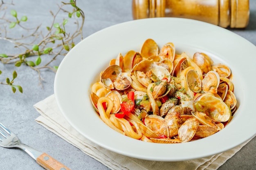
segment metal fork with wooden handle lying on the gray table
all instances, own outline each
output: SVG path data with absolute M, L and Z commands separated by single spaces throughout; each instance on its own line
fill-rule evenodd
M 27 152 L 36 162 L 46 170 L 70 170 L 46 153 L 39 152 L 30 146 L 22 144 L 20 139 L 0 122 L 0 146 L 4 148 L 20 148 Z

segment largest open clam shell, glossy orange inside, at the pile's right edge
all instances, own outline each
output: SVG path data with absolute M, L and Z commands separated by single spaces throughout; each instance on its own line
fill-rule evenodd
M 206 104 L 207 110 L 205 110 L 204 113 L 214 121 L 224 122 L 229 120 L 229 107 L 222 101 L 222 99 L 211 95 L 204 95 L 200 97 L 199 101 Z

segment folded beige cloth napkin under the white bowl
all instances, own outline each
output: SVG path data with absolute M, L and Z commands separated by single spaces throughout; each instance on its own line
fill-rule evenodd
M 92 143 L 80 135 L 67 123 L 61 114 L 54 95 L 36 103 L 34 107 L 41 114 L 36 118 L 38 124 L 54 132 L 62 139 L 112 170 L 156 170 L 159 167 L 162 170 L 216 170 L 248 142 L 227 152 L 201 159 L 180 162 L 146 161 L 119 155 Z

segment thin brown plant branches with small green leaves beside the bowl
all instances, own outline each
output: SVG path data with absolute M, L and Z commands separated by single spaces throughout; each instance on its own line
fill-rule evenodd
M 65 56 L 67 52 L 74 47 L 75 38 L 79 37 L 83 40 L 83 25 L 85 21 L 84 12 L 76 6 L 76 0 L 70 0 L 70 2 L 61 2 L 58 5 L 58 10 L 54 13 L 49 11 L 52 16 L 52 23 L 47 26 L 47 30 L 42 30 L 42 24 L 38 24 L 35 28 L 27 28 L 23 24 L 27 21 L 27 16 L 18 18 L 17 11 L 11 10 L 8 15 L 7 6 L 14 6 L 13 2 L 5 3 L 3 0 L 0 3 L 0 13 L 3 13 L 0 18 L 0 40 L 13 44 L 14 48 L 19 48 L 20 52 L 16 54 L 0 54 L 0 62 L 3 64 L 14 64 L 15 66 L 27 66 L 38 73 L 39 82 L 42 84 L 41 70 L 49 69 L 56 73 L 58 66 L 50 66 L 51 63 L 56 60 L 58 56 Z M 67 9 L 63 7 L 67 6 Z M 71 9 L 71 11 L 69 11 Z M 60 13 L 67 13 L 68 18 L 74 19 L 76 22 L 76 29 L 73 32 L 66 32 L 65 26 L 68 20 L 64 19 L 61 24 L 56 22 Z M 15 21 L 13 21 L 14 19 Z M 21 37 L 11 37 L 9 33 L 12 29 L 23 29 L 25 35 Z M 74 26 L 72 26 L 74 27 Z M 46 32 L 45 32 L 46 31 Z M 43 56 L 49 57 L 43 57 Z M 36 60 L 34 58 L 37 56 Z M 42 58 L 45 61 L 42 64 Z M 34 60 L 34 61 L 32 61 Z M 0 70 L 0 74 L 2 71 Z M 13 85 L 13 80 L 17 77 L 16 71 L 13 71 L 13 79 L 9 81 L 7 77 L 6 83 L 0 82 L 2 85 L 11 86 L 13 93 L 16 92 L 16 88 L 22 93 L 22 87 Z M 1 78 L 1 77 L 0 77 Z

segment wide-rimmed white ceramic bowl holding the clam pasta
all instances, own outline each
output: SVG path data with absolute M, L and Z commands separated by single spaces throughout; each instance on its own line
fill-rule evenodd
M 237 110 L 231 123 L 210 137 L 182 144 L 155 144 L 132 139 L 108 127 L 92 108 L 90 86 L 110 59 L 140 51 L 152 38 L 159 46 L 173 42 L 176 52 L 207 53 L 227 64 L 233 74 Z M 155 161 L 182 161 L 215 155 L 256 134 L 256 46 L 244 38 L 205 22 L 182 18 L 151 18 L 124 22 L 98 31 L 65 56 L 56 73 L 54 93 L 67 121 L 92 142 L 122 155 Z

